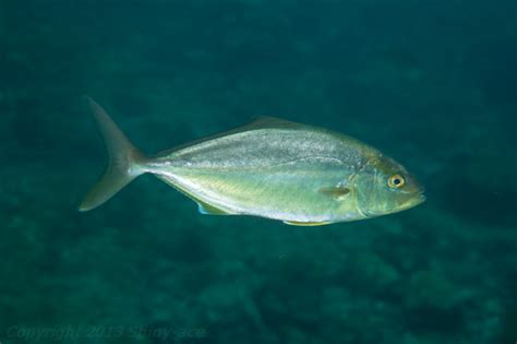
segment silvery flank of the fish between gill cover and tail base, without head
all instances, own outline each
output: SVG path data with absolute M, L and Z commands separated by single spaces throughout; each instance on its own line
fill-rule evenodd
M 299 223 L 365 217 L 356 198 L 321 191 L 353 182 L 366 164 L 361 146 L 310 127 L 263 127 L 274 121 L 160 156 L 151 171 L 228 214 Z

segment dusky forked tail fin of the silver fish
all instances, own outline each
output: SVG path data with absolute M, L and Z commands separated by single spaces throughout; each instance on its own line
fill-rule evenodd
M 145 173 L 145 156 L 125 138 L 106 111 L 91 97 L 85 97 L 103 135 L 108 152 L 108 166 L 100 180 L 89 190 L 79 210 L 89 211 L 112 198 L 131 180 Z

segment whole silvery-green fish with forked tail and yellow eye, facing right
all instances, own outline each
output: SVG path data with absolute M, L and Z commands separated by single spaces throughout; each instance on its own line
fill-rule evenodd
M 332 130 L 275 117 L 147 156 L 105 109 L 86 103 L 108 164 L 79 210 L 93 210 L 152 174 L 208 215 L 251 215 L 320 226 L 400 212 L 425 200 L 408 170 L 378 150 Z

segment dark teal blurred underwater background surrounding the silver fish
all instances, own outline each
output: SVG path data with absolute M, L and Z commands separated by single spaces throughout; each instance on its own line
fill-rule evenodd
M 0 343 L 515 343 L 516 62 L 513 0 L 0 0 Z M 79 213 L 85 94 L 148 153 L 334 129 L 428 201 L 293 227 L 144 176 Z

